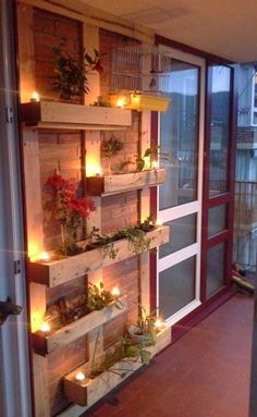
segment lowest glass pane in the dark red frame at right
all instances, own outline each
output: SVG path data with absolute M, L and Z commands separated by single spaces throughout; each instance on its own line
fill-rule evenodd
M 207 253 L 207 297 L 223 285 L 224 247 L 224 243 L 220 243 L 219 245 L 211 247 Z

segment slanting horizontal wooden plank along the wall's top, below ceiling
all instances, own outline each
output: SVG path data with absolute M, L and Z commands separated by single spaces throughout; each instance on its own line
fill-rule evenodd
M 117 17 L 111 13 L 89 7 L 78 0 L 75 2 L 74 0 L 65 0 L 64 3 L 62 0 L 23 0 L 23 3 L 44 9 L 69 19 L 74 19 L 78 22 L 93 26 L 101 27 L 102 29 L 137 39 L 144 44 L 155 44 L 154 30 L 143 25 L 126 21 L 122 17 Z

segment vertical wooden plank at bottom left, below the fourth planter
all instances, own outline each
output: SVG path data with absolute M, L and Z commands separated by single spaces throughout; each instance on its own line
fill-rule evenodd
M 48 417 L 50 413 L 50 402 L 48 394 L 47 359 L 37 354 L 33 354 L 33 381 L 35 417 Z

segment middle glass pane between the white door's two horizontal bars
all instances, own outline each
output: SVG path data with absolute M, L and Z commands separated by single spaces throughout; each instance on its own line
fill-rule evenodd
M 160 258 L 189 246 L 196 240 L 196 214 L 181 217 L 166 223 L 170 226 L 170 241 L 160 246 Z

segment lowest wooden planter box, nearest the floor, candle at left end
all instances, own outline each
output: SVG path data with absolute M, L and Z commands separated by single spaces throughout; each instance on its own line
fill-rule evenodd
M 150 351 L 154 356 L 170 343 L 171 329 L 168 328 L 157 335 L 156 345 L 147 349 Z M 75 376 L 79 371 L 85 375 L 88 369 L 86 364 L 64 377 L 65 395 L 75 404 L 91 406 L 143 366 L 144 364 L 139 360 L 125 358 L 94 379 L 85 377 L 83 381 L 77 381 Z

